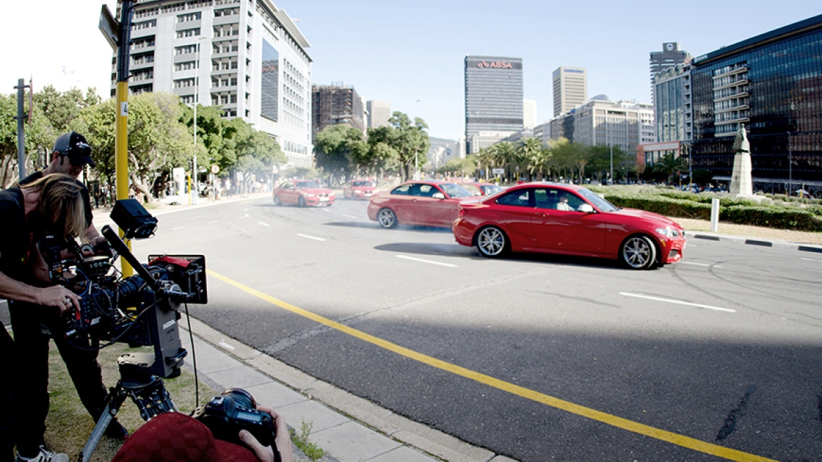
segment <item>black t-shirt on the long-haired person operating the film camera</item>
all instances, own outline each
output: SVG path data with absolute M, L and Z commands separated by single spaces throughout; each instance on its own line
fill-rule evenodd
M 19 187 L 0 191 L 0 223 L 0 271 L 14 280 L 24 280 L 32 238 L 25 230 L 25 207 Z

